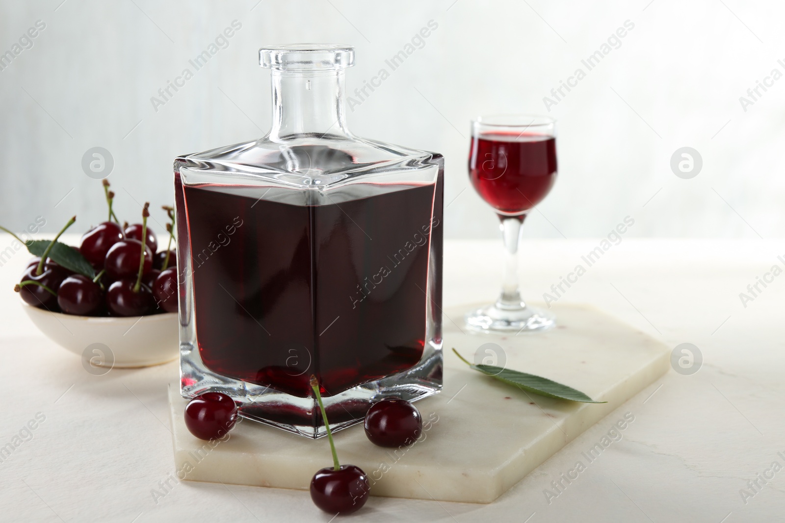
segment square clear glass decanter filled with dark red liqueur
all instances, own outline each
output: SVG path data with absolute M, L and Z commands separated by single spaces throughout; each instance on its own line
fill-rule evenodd
M 442 383 L 444 158 L 353 136 L 347 45 L 260 50 L 261 139 L 174 162 L 181 393 L 309 438 Z

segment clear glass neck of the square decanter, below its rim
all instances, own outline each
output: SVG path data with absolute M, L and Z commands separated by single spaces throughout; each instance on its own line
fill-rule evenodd
M 344 71 L 272 71 L 270 140 L 351 136 L 346 128 Z

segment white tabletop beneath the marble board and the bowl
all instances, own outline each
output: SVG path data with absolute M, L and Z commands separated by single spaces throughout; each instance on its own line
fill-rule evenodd
M 542 292 L 598 242 L 525 241 L 524 297 L 542 300 Z M 9 245 L 7 235 L 0 235 L 0 245 Z M 782 241 L 625 238 L 562 300 L 593 303 L 671 347 L 694 343 L 704 358 L 699 372 L 670 371 L 494 503 L 372 496 L 349 519 L 783 521 L 785 275 L 746 308 L 739 300 L 756 276 L 774 264 L 785 266 L 780 254 Z M 498 242 L 447 242 L 445 303 L 495 296 L 500 255 Z M 0 267 L 0 447 L 36 413 L 46 420 L 0 463 L 0 521 L 330 521 L 308 492 L 175 484 L 166 384 L 177 379 L 177 363 L 87 373 L 79 358 L 46 340 L 21 310 L 12 288 L 28 257 L 19 252 Z M 623 439 L 548 503 L 543 490 L 577 460 L 586 464 L 582 452 L 625 412 L 635 420 Z M 747 482 L 774 461 L 783 470 L 766 485 L 758 481 L 757 493 L 751 490 Z M 152 490 L 162 492 L 159 482 L 167 479 L 173 488 L 156 503 Z M 741 489 L 753 495 L 747 503 Z

